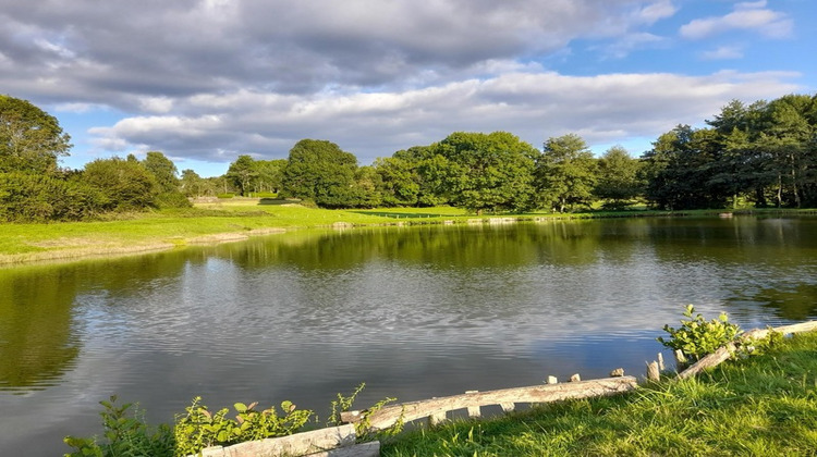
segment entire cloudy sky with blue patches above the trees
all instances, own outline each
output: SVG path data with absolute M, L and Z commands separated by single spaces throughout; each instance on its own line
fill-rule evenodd
M 159 150 L 223 174 L 328 139 L 361 165 L 453 132 L 633 157 L 730 100 L 817 91 L 814 0 L 0 0 L 0 94 L 63 166 Z

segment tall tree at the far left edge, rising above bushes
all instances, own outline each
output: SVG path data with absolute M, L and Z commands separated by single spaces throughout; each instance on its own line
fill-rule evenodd
M 0 95 L 0 173 L 54 174 L 70 141 L 56 118 L 26 100 Z

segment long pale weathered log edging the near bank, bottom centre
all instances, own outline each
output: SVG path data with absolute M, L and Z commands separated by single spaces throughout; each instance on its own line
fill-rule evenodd
M 564 384 L 535 385 L 528 387 L 503 388 L 474 394 L 453 395 L 428 400 L 411 402 L 387 406 L 368 416 L 373 430 L 383 430 L 398 421 L 431 417 L 474 406 L 501 405 L 505 403 L 551 403 L 572 398 L 588 398 L 617 395 L 637 387 L 634 376 L 608 378 Z M 363 415 L 356 418 L 359 420 Z M 352 418 L 355 419 L 355 418 Z

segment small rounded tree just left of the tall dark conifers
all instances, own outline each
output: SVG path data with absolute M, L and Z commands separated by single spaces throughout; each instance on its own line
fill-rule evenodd
M 605 206 L 623 208 L 643 192 L 638 176 L 641 162 L 630 157 L 626 149 L 613 146 L 598 161 L 598 180 L 594 193 L 608 200 Z

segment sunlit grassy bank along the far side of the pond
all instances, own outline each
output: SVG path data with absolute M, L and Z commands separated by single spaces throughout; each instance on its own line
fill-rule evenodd
M 769 212 L 771 211 L 771 212 Z M 777 213 L 766 210 L 766 213 Z M 808 212 L 808 211 L 804 211 Z M 814 211 L 812 211 L 813 213 Z M 786 211 L 791 213 L 791 211 Z M 570 214 L 504 214 L 521 220 L 714 215 L 717 211 L 618 211 Z M 246 239 L 293 228 L 473 222 L 476 217 L 450 207 L 325 210 L 280 200 L 230 199 L 198 203 L 191 210 L 109 215 L 94 222 L 2 224 L 0 264 L 137 254 L 192 244 Z

